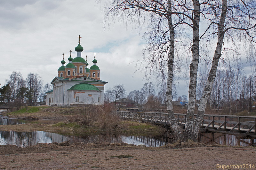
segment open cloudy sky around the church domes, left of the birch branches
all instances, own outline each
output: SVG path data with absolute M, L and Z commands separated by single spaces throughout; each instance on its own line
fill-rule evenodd
M 43 83 L 51 82 L 61 66 L 62 54 L 68 63 L 69 50 L 76 57 L 75 47 L 81 35 L 82 57 L 87 55 L 89 68 L 96 52 L 100 79 L 105 89 L 124 84 L 127 95 L 140 90 L 147 82 L 144 72 L 136 72 L 136 61 L 142 60 L 145 41 L 136 26 L 122 22 L 104 29 L 104 4 L 95 0 L 2 0 L 0 1 L 0 83 L 5 84 L 12 71 L 38 73 Z M 188 78 L 188 76 L 187 76 Z M 157 81 L 151 81 L 156 86 Z M 2 86 L 1 85 L 1 86 Z M 179 95 L 188 95 L 188 81 L 180 81 Z

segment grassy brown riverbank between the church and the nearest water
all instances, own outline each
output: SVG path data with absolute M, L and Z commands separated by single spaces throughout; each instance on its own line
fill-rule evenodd
M 102 122 L 95 121 L 91 125 L 83 125 L 79 121 L 75 121 L 74 112 L 76 108 L 54 108 L 49 106 L 29 106 L 28 108 L 21 108 L 15 112 L 4 112 L 1 115 L 8 116 L 14 119 L 30 120 L 25 124 L 10 124 L 0 125 L 2 131 L 18 131 L 18 132 L 31 132 L 31 131 L 46 131 L 58 132 L 65 134 L 83 134 L 92 135 L 97 133 L 121 133 L 121 134 L 163 134 L 164 128 L 154 126 L 150 123 L 139 123 L 137 121 L 121 120 L 118 118 L 118 126 L 114 128 L 104 128 Z M 46 124 L 41 123 L 40 119 L 58 120 L 58 123 Z M 108 117 L 105 118 L 108 123 Z

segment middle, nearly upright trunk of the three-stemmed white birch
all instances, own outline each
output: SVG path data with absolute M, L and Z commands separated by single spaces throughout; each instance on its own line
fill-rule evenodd
M 195 140 L 194 131 L 194 114 L 196 106 L 196 79 L 199 63 L 199 22 L 200 22 L 200 3 L 199 0 L 192 0 L 194 6 L 193 19 L 193 45 L 192 45 L 192 62 L 189 66 L 189 89 L 188 89 L 188 110 L 185 124 L 185 138 Z

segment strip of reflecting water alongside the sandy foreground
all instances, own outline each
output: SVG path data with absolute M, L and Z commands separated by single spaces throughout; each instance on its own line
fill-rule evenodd
M 36 143 L 61 143 L 68 141 L 69 143 L 130 143 L 134 145 L 146 145 L 148 147 L 158 147 L 165 144 L 163 140 L 154 138 L 153 136 L 125 136 L 116 134 L 97 134 L 91 136 L 72 136 L 61 135 L 57 133 L 33 131 L 33 132 L 15 132 L 0 131 L 0 145 L 12 144 L 20 147 L 32 146 Z

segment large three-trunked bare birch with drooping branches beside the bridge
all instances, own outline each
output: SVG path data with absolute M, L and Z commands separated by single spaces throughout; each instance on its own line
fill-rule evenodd
M 249 41 L 249 45 L 255 43 L 255 3 L 253 0 L 111 0 L 111 2 L 106 18 L 125 19 L 127 22 L 133 22 L 140 21 L 142 15 L 148 14 L 147 17 L 151 24 L 149 24 L 149 27 L 152 28 L 150 30 L 152 34 L 148 37 L 151 66 L 153 67 L 153 63 L 156 62 L 160 67 L 164 66 L 164 62 L 167 63 L 166 104 L 169 123 L 177 139 L 196 141 L 204 117 L 206 103 L 216 77 L 219 60 L 222 53 L 225 52 L 225 49 L 223 49 L 224 37 L 229 37 L 232 43 L 232 41 L 237 40 L 234 37 L 240 35 L 239 38 L 242 37 L 246 42 Z M 200 35 L 201 20 L 208 27 L 201 31 Z M 174 40 L 175 35 L 180 33 L 180 28 L 183 28 L 183 30 L 190 29 L 193 36 L 190 48 L 192 61 L 189 66 L 188 110 L 184 131 L 176 122 L 172 106 L 174 51 L 177 50 L 175 48 L 177 42 L 175 43 Z M 186 41 L 185 39 L 188 37 L 181 38 Z M 204 44 L 200 45 L 201 41 L 204 41 Z M 200 98 L 198 114 L 195 118 L 197 73 L 200 59 L 199 48 L 207 48 L 205 44 L 210 41 L 216 42 L 216 46 L 213 57 L 207 56 L 212 58 L 212 65 Z M 168 55 L 167 60 L 163 59 L 165 54 Z M 163 68 L 160 69 L 160 72 L 163 71 Z

